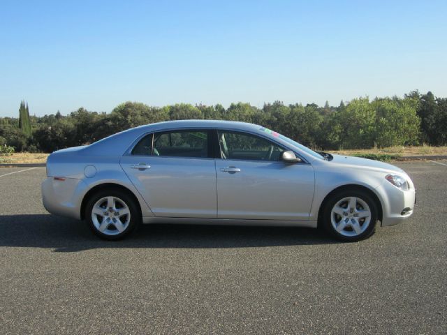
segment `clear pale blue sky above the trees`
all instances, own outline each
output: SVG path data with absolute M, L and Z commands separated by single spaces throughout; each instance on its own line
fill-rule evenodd
M 447 96 L 447 1 L 0 1 L 0 116 Z

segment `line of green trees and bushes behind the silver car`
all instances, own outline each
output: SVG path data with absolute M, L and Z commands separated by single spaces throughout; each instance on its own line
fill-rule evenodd
M 249 103 L 154 107 L 126 102 L 110 113 L 79 108 L 67 116 L 29 117 L 20 103 L 20 117 L 0 118 L 0 145 L 15 151 L 52 152 L 89 144 L 125 129 L 159 121 L 223 119 L 260 124 L 314 149 L 369 149 L 447 144 L 447 98 L 412 91 L 404 97 L 356 98 L 338 106 L 310 103 Z

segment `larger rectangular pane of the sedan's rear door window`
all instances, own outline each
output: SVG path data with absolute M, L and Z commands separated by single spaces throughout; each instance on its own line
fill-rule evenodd
M 153 156 L 207 157 L 207 131 L 173 131 L 154 134 Z

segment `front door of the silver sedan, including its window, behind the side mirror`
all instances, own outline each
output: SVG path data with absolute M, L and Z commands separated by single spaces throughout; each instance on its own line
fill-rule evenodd
M 257 135 L 218 131 L 218 218 L 308 220 L 314 170 L 280 160 L 284 148 Z

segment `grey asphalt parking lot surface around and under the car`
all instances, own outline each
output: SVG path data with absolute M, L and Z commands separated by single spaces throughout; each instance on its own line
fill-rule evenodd
M 198 225 L 101 241 L 47 214 L 45 168 L 1 168 L 0 332 L 446 334 L 447 161 L 396 165 L 416 184 L 415 213 L 351 244 Z

